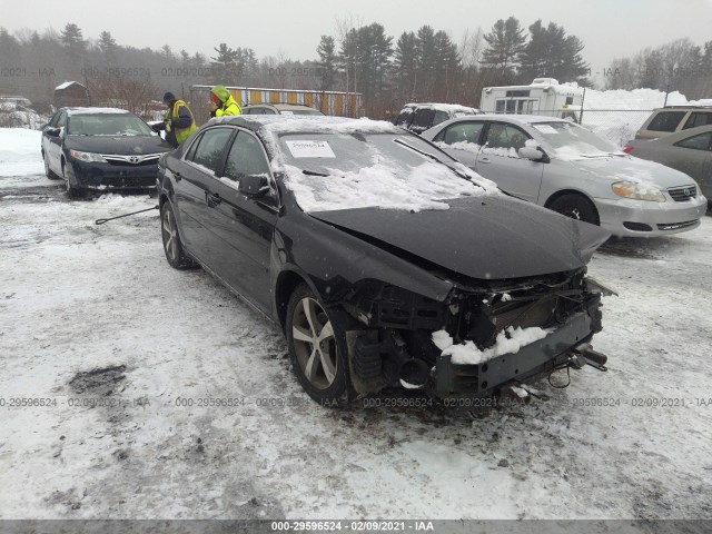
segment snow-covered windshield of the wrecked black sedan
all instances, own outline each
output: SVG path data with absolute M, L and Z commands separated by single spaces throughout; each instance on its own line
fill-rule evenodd
M 287 187 L 305 211 L 448 209 L 443 199 L 496 189 L 411 135 L 283 134 L 279 145 Z

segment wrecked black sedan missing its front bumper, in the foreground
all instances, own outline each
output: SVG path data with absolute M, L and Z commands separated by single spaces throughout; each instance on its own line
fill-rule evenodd
M 604 230 L 502 194 L 387 122 L 224 117 L 161 157 L 168 263 L 285 333 L 324 404 L 389 386 L 490 398 L 590 364 Z M 517 389 L 514 389 L 517 392 Z

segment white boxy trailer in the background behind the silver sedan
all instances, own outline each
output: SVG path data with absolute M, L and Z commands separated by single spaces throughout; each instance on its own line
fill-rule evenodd
M 580 121 L 583 89 L 574 81 L 535 78 L 528 86 L 485 87 L 479 110 L 485 113 L 543 115 Z

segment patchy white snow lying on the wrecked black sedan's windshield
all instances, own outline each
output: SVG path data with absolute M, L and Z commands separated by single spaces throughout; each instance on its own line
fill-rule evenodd
M 380 207 L 421 211 L 448 209 L 442 201 L 492 192 L 464 180 L 444 165 L 425 161 L 404 170 L 376 164 L 358 171 L 329 169 L 329 176 L 312 176 L 284 165 L 286 185 L 305 211 Z M 468 171 L 472 176 L 472 171 Z

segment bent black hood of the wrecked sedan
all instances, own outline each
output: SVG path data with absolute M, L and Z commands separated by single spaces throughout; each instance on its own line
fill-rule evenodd
M 492 280 L 583 267 L 610 237 L 597 226 L 505 196 L 447 204 L 444 210 L 369 207 L 309 216 L 461 275 Z

